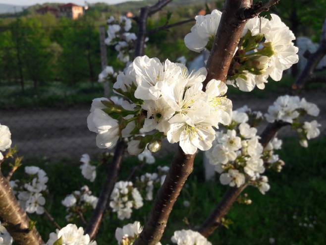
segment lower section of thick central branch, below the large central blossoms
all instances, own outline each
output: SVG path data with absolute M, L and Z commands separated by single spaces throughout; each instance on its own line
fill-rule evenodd
M 160 242 L 168 216 L 188 176 L 193 171 L 194 155 L 186 155 L 179 147 L 168 174 L 154 202 L 143 232 L 134 245 L 156 245 Z

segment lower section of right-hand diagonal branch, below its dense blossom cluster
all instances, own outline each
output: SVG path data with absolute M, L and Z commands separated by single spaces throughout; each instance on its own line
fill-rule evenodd
M 214 211 L 200 227 L 198 232 L 200 232 L 204 237 L 209 237 L 215 231 L 215 229 L 221 225 L 221 219 L 227 214 L 232 204 L 237 200 L 240 193 L 246 187 L 247 185 L 242 185 L 239 188 L 229 187 Z

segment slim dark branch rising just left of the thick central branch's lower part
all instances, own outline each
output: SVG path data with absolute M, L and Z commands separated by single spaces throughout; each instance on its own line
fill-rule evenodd
M 113 191 L 114 184 L 116 182 L 118 172 L 120 170 L 120 165 L 125 148 L 126 146 L 123 140 L 119 140 L 115 147 L 112 163 L 108 166 L 107 180 L 103 185 L 99 201 L 96 205 L 93 216 L 85 230 L 85 232 L 90 236 L 91 240 L 95 238 L 100 228 L 104 212 L 107 209 L 109 197 Z

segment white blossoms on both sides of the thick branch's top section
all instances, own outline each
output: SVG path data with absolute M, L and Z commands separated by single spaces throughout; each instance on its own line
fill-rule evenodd
M 184 38 L 192 51 L 201 52 L 212 48 L 221 19 L 217 9 L 211 14 L 195 17 L 196 24 Z M 242 91 L 252 91 L 255 86 L 265 88 L 268 77 L 279 81 L 283 70 L 298 62 L 298 48 L 294 46 L 292 31 L 271 14 L 271 19 L 254 17 L 243 30 L 227 76 L 227 83 Z

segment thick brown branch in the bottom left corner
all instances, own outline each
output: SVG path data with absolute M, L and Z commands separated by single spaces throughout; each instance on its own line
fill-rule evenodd
M 19 206 L 9 182 L 0 172 L 0 221 L 17 245 L 44 244 L 36 227 Z

